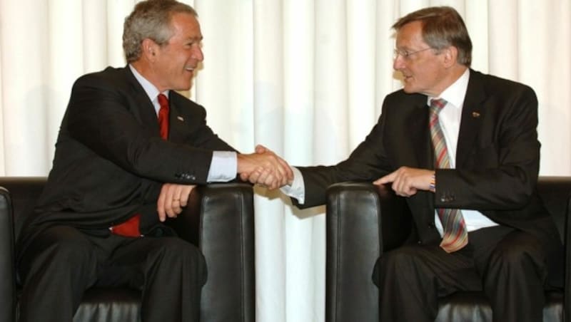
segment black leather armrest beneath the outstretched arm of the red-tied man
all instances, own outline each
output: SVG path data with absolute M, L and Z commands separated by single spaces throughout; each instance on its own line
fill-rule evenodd
M 200 247 L 208 280 L 201 321 L 255 320 L 253 189 L 243 183 L 200 186 L 171 224 Z

